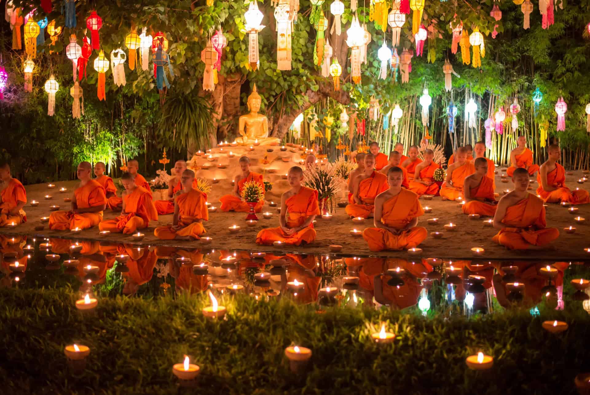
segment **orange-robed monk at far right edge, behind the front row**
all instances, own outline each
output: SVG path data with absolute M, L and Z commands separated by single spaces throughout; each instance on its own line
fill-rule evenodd
M 549 159 L 541 165 L 537 175 L 537 195 L 548 203 L 568 202 L 571 204 L 590 203 L 588 192 L 572 191 L 565 186 L 565 169 L 557 161 L 561 158 L 559 145 L 552 144 L 547 150 Z

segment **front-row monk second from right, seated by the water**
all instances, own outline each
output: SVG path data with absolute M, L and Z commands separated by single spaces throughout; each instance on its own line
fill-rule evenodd
M 375 198 L 375 227 L 363 231 L 371 251 L 414 248 L 428 236 L 426 228 L 416 226 L 424 210 L 418 195 L 402 188 L 403 177 L 399 167 L 389 169 L 389 189 Z

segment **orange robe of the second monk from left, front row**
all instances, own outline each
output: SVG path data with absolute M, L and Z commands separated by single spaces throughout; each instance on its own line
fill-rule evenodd
M 74 191 L 78 208 L 97 207 L 107 203 L 104 189 L 99 182 L 91 179 L 83 187 Z M 103 220 L 103 212 L 78 213 L 71 211 L 55 211 L 49 217 L 49 228 L 51 230 L 70 230 L 74 228 L 87 229 L 97 226 Z

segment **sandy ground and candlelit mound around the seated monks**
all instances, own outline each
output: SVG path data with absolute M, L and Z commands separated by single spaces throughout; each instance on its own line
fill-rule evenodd
M 280 202 L 280 194 L 287 190 L 288 184 L 286 180 L 281 179 L 281 174 L 285 174 L 287 169 L 301 159 L 299 151 L 290 152 L 289 149 L 286 152 L 280 152 L 280 147 L 267 147 L 258 146 L 255 147 L 253 152 L 248 152 L 248 156 L 252 159 L 251 169 L 256 172 L 264 172 L 265 179 L 273 182 L 273 190 L 267 192 L 268 201 Z M 267 149 L 274 149 L 272 153 L 266 152 Z M 224 194 L 231 192 L 232 183 L 231 180 L 240 171 L 237 167 L 239 156 L 244 152 L 244 148 L 240 147 L 227 147 L 223 148 L 221 152 L 220 148 L 214 149 L 212 155 L 217 157 L 216 161 L 209 162 L 207 158 L 201 156 L 196 159 L 194 165 L 202 165 L 205 163 L 212 164 L 214 167 L 211 169 L 199 169 L 196 174 L 198 177 L 204 177 L 208 179 L 217 178 L 219 182 L 213 185 L 213 190 L 209 194 L 208 200 L 213 205 L 219 206 L 219 197 Z M 228 158 L 227 152 L 232 151 L 235 155 L 234 158 Z M 264 156 L 267 155 L 269 161 L 268 164 L 263 163 Z M 281 156 L 289 156 L 291 161 L 284 162 Z M 226 164 L 227 168 L 218 169 L 216 166 L 218 163 Z M 274 173 L 270 174 L 268 169 L 274 169 Z M 511 188 L 510 182 L 503 183 L 500 181 L 501 169 L 497 168 L 496 175 L 496 192 Z M 271 170 L 273 171 L 273 170 Z M 576 187 L 588 190 L 588 184 L 577 184 L 576 181 L 582 177 L 581 171 L 574 172 L 573 175 L 566 175 L 567 185 L 575 189 Z M 148 178 L 148 177 L 146 177 Z M 35 234 L 37 236 L 45 237 L 67 237 L 71 238 L 71 234 L 68 232 L 51 231 L 48 229 L 47 224 L 43 230 L 35 231 L 35 227 L 41 226 L 40 218 L 49 216 L 49 206 L 53 204 L 61 205 L 61 208 L 68 208 L 69 203 L 64 203 L 64 197 L 69 197 L 71 191 L 76 185 L 76 181 L 65 181 L 56 182 L 56 188 L 48 190 L 46 184 L 36 184 L 27 186 L 27 194 L 29 202 L 31 200 L 37 200 L 40 202 L 38 207 L 31 207 L 29 204 L 25 206 L 27 212 L 28 222 L 15 228 L 14 230 L 2 229 L 0 233 L 18 233 L 18 234 Z M 59 188 L 68 188 L 68 192 L 60 193 Z M 537 187 L 535 181 L 532 184 L 533 191 Z M 52 200 L 44 200 L 45 194 L 51 194 Z M 155 197 L 156 198 L 156 197 Z M 345 199 L 342 199 L 345 200 Z M 568 212 L 566 208 L 560 207 L 556 204 L 549 204 L 546 207 L 547 210 L 547 223 L 548 226 L 557 227 L 560 231 L 560 237 L 553 244 L 543 249 L 527 250 L 527 251 L 510 251 L 504 247 L 493 243 L 491 240 L 496 230 L 491 227 L 483 226 L 483 219 L 480 220 L 469 220 L 466 215 L 461 211 L 461 207 L 456 202 L 442 201 L 440 197 L 436 197 L 433 200 L 426 201 L 421 200 L 422 206 L 432 207 L 432 213 L 425 214 L 423 217 L 418 219 L 419 226 L 427 228 L 429 236 L 419 246 L 423 249 L 424 257 L 441 257 L 449 259 L 460 259 L 460 258 L 471 258 L 472 247 L 483 247 L 485 253 L 483 255 L 486 259 L 555 259 L 555 260 L 579 260 L 587 259 L 590 254 L 586 253 L 584 249 L 590 247 L 590 241 L 588 241 L 588 235 L 590 234 L 590 205 L 580 205 L 578 214 L 587 218 L 586 223 L 576 224 L 573 218 L 576 217 Z M 268 207 L 265 205 L 263 211 L 270 211 L 273 213 L 273 218 L 265 220 L 259 215 L 260 221 L 254 227 L 247 227 L 245 224 L 245 213 L 211 213 L 209 221 L 205 224 L 207 229 L 207 236 L 213 238 L 212 244 L 207 247 L 213 247 L 217 249 L 243 249 L 243 250 L 260 250 L 271 252 L 278 252 L 279 249 L 276 247 L 263 247 L 255 244 L 256 234 L 262 228 L 276 227 L 278 226 L 278 213 L 276 207 Z M 105 211 L 104 218 L 110 219 L 116 217 L 117 213 L 111 211 Z M 437 225 L 427 224 L 429 218 L 440 218 Z M 172 215 L 160 216 L 158 223 L 152 222 L 150 227 L 142 232 L 146 234 L 142 244 L 150 245 L 168 245 L 168 246 L 190 246 L 194 248 L 204 247 L 204 244 L 200 241 L 167 241 L 162 242 L 153 236 L 153 229 L 156 226 L 170 224 L 172 221 Z M 454 232 L 445 232 L 443 225 L 447 223 L 456 223 L 458 230 Z M 237 234 L 230 234 L 228 227 L 237 224 L 241 226 L 241 230 Z M 352 228 L 362 230 L 365 227 L 372 226 L 372 220 L 366 220 L 363 224 L 353 224 L 352 221 L 346 216 L 344 208 L 337 208 L 335 216 L 331 220 L 317 219 L 316 230 L 317 239 L 313 244 L 304 247 L 284 247 L 284 252 L 297 252 L 297 253 L 314 253 L 323 254 L 328 253 L 328 246 L 330 244 L 340 244 L 343 246 L 342 254 L 346 256 L 396 256 L 404 257 L 407 256 L 407 252 L 381 252 L 374 253 L 368 249 L 365 241 L 362 237 L 353 237 L 349 234 Z M 575 226 L 577 228 L 576 233 L 566 234 L 563 231 L 564 227 Z M 443 239 L 434 239 L 430 236 L 433 231 L 444 232 Z M 107 237 L 100 237 L 98 228 L 92 228 L 81 232 L 76 239 L 99 239 L 109 240 L 117 242 L 133 242 L 131 236 L 121 234 L 111 234 Z

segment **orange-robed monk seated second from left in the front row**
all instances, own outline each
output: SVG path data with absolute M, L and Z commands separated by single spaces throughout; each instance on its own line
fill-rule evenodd
M 71 210 L 51 213 L 51 230 L 87 229 L 97 226 L 102 221 L 107 198 L 102 185 L 90 178 L 91 171 L 89 162 L 80 162 L 77 169 L 80 184 L 71 198 Z

